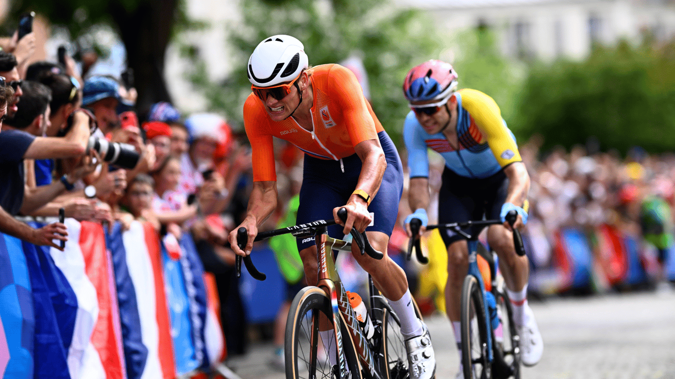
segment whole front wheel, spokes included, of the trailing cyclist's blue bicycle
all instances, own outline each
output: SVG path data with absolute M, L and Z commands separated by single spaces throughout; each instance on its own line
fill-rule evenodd
M 491 379 L 483 293 L 475 276 L 468 275 L 464 278 L 461 312 L 464 379 Z

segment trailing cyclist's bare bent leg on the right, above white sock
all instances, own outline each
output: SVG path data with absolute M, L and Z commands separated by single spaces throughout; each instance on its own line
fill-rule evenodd
M 503 225 L 491 225 L 487 229 L 487 243 L 499 257 L 499 268 L 506 287 L 511 291 L 522 290 L 529 279 L 529 262 L 527 256 L 516 254 L 513 233 Z

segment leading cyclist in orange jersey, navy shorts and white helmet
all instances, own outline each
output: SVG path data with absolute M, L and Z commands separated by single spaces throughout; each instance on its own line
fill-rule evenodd
M 366 231 L 385 257 L 352 254 L 400 317 L 411 378 L 433 378 L 436 365 L 429 330 L 416 317 L 404 271 L 387 256 L 403 190 L 401 161 L 358 80 L 336 64 L 309 68 L 302 42 L 286 35 L 265 38 L 250 56 L 247 71 L 253 93 L 244 104 L 244 127 L 252 146 L 254 183 L 240 225 L 248 230 L 246 251 L 236 244 L 239 227 L 229 235 L 233 250 L 241 256 L 250 254 L 258 226 L 277 206 L 273 137 L 292 142 L 305 152 L 296 222 L 332 216 L 343 226 L 329 227 L 331 237 L 342 237 L 352 227 Z M 348 211 L 346 223 L 337 216 L 343 206 Z M 297 243 L 306 278 L 316 280 L 313 239 Z M 333 333 L 320 332 L 325 337 Z M 335 351 L 328 355 L 335 365 Z

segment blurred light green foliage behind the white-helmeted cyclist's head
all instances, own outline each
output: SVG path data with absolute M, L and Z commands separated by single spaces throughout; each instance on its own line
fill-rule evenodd
M 401 86 L 408 69 L 439 50 L 431 22 L 419 11 L 398 9 L 381 0 L 242 0 L 242 24 L 232 30 L 236 67 L 225 82 L 209 84 L 196 62 L 193 82 L 205 89 L 211 109 L 224 109 L 242 125 L 242 107 L 250 94 L 246 63 L 253 49 L 273 34 L 302 41 L 311 65 L 338 63 L 360 55 L 368 72 L 373 110 L 399 144 L 409 109 Z

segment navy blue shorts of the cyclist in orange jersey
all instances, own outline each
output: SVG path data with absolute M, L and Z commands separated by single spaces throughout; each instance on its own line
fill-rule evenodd
M 373 226 L 367 227 L 366 231 L 381 231 L 391 235 L 398 216 L 398 203 L 403 193 L 403 169 L 401 158 L 391 138 L 386 132 L 379 132 L 377 136 L 387 159 L 387 169 L 384 171 L 379 191 L 368 207 L 368 210 L 374 213 L 374 217 Z M 361 173 L 361 159 L 357 154 L 352 154 L 342 158 L 342 164 L 344 172 L 340 167 L 340 161 L 329 161 L 305 154 L 298 224 L 331 220 L 333 208 L 347 204 L 352 192 L 356 190 Z M 340 225 L 331 225 L 328 227 L 328 235 L 342 239 L 343 229 L 344 227 Z M 314 245 L 314 238 L 302 237 L 298 238 L 297 242 L 300 251 Z

